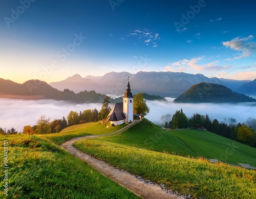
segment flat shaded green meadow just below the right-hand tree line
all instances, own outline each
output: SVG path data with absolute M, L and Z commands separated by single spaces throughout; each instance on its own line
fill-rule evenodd
M 256 167 L 256 148 L 205 130 L 169 130 L 169 133 L 198 156 L 236 165 L 246 163 Z

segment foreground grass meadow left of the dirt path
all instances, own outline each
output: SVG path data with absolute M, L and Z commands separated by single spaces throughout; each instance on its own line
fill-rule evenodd
M 61 134 L 60 134 L 61 135 Z M 8 195 L 0 170 L 0 198 L 138 198 L 87 163 L 39 136 L 0 136 L 8 140 Z

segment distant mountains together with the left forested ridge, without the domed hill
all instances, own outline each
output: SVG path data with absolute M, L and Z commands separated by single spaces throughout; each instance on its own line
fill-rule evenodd
M 115 97 L 125 92 L 128 77 L 133 94 L 147 93 L 161 97 L 177 98 L 191 86 L 205 82 L 216 83 L 229 87 L 232 91 L 256 96 L 256 79 L 231 80 L 208 78 L 202 74 L 187 74 L 175 72 L 111 72 L 103 76 L 86 76 L 82 78 L 76 74 L 50 85 L 40 80 L 29 80 L 19 84 L 0 78 L 0 97 L 3 95 L 24 96 L 28 99 L 56 99 L 70 100 L 81 103 L 99 102 L 102 94 Z M 26 96 L 26 97 L 25 97 Z M 84 99 L 87 97 L 88 99 Z

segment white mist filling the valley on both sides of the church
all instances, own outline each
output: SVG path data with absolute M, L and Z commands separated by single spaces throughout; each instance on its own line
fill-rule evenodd
M 174 103 L 146 101 L 150 107 L 150 113 L 146 116 L 156 124 L 164 124 L 172 119 L 176 110 L 183 109 L 187 118 L 198 113 L 206 115 L 211 120 L 217 119 L 220 122 L 224 118 L 235 118 L 238 122 L 246 122 L 249 117 L 256 118 L 256 103 L 238 103 L 238 104 L 216 104 L 216 103 Z M 111 105 L 112 107 L 113 105 Z M 79 113 L 86 109 L 101 109 L 100 103 L 90 104 L 73 104 L 65 101 L 55 100 L 17 100 L 17 99 L 0 99 L 0 127 L 6 130 L 12 127 L 22 131 L 26 125 L 35 125 L 41 115 L 54 119 L 67 118 L 71 110 Z M 167 115 L 168 114 L 168 115 Z M 164 116 L 164 118 L 163 118 Z

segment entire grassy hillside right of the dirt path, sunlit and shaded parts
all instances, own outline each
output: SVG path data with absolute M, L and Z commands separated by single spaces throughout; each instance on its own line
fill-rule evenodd
M 228 149 L 229 143 L 235 146 L 232 154 Z M 233 144 L 233 141 L 208 131 L 165 131 L 143 120 L 118 135 L 81 140 L 75 146 L 120 169 L 193 197 L 256 197 L 256 171 L 224 163 L 214 164 L 204 158 L 174 155 L 216 158 L 216 153 L 222 154 L 224 151 L 228 156 L 233 156 L 227 159 L 232 163 L 246 163 L 249 160 L 247 163 L 254 165 L 255 161 L 251 160 L 255 159 L 254 148 L 237 142 Z

